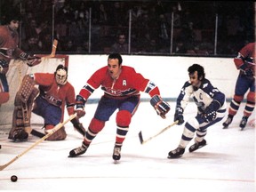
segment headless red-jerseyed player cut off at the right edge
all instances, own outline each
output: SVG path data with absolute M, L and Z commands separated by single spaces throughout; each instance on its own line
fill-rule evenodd
M 249 116 L 252 115 L 255 108 L 255 55 L 255 43 L 249 43 L 238 52 L 234 59 L 236 68 L 240 72 L 236 79 L 235 95 L 233 100 L 231 100 L 228 109 L 228 118 L 223 123 L 223 129 L 228 128 L 228 125 L 232 123 L 233 117 L 236 115 L 241 102 L 244 100 L 245 93 L 248 91 L 244 116 L 239 124 L 241 130 L 244 130 Z

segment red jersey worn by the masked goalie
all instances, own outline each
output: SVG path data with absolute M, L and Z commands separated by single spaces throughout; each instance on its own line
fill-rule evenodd
M 64 114 L 65 104 L 68 109 L 68 116 L 74 114 L 74 106 L 76 103 L 75 89 L 72 84 L 59 85 L 56 83 L 54 74 L 35 73 L 34 79 L 39 85 L 40 92 L 44 92 L 45 96 L 52 100 L 60 100 L 62 102 L 62 117 Z M 63 120 L 63 119 L 62 119 Z

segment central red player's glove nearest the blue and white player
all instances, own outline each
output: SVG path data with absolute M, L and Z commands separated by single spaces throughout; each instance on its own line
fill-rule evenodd
M 157 115 L 166 118 L 165 115 L 170 110 L 170 106 L 167 102 L 162 100 L 159 95 L 154 95 L 150 100 L 150 104 L 155 108 Z

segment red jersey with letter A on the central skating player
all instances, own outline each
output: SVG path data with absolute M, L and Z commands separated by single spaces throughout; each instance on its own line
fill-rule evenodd
M 156 84 L 144 78 L 140 73 L 136 73 L 134 68 L 128 66 L 122 66 L 122 71 L 116 80 L 109 75 L 108 66 L 100 68 L 89 78 L 79 94 L 87 100 L 100 85 L 105 95 L 116 99 L 139 95 L 140 92 L 146 92 L 151 97 L 155 94 L 160 95 Z

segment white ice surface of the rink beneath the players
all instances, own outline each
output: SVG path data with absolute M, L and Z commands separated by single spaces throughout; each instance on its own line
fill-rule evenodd
M 66 140 L 44 140 L 23 156 L 19 155 L 39 139 L 29 136 L 27 142 L 12 142 L 7 139 L 8 132 L 2 132 L 0 165 L 7 164 L 16 156 L 18 158 L 0 171 L 0 190 L 255 191 L 255 119 L 254 125 L 248 124 L 243 132 L 240 131 L 244 103 L 228 129 L 222 129 L 225 119 L 214 124 L 205 138 L 208 145 L 193 153 L 189 153 L 187 148 L 179 159 L 168 159 L 167 155 L 178 146 L 182 125 L 172 126 L 144 145 L 140 144 L 138 137 L 141 131 L 146 140 L 172 124 L 175 103 L 170 104 L 171 112 L 166 119 L 162 119 L 156 116 L 148 102 L 140 103 L 132 117 L 118 164 L 112 160 L 116 137 L 115 115 L 92 141 L 87 152 L 76 158 L 68 158 L 68 153 L 79 147 L 83 139 L 70 123 L 66 124 Z M 86 105 L 86 115 L 82 118 L 84 127 L 87 128 L 90 123 L 95 108 L 96 104 Z M 195 116 L 195 113 L 195 104 L 189 103 L 185 120 Z M 254 115 L 249 122 L 255 118 Z M 188 147 L 192 143 L 193 140 Z M 17 182 L 10 180 L 12 175 L 17 175 Z

